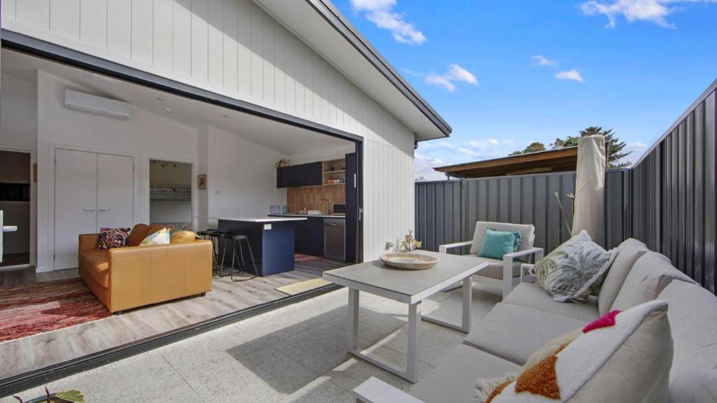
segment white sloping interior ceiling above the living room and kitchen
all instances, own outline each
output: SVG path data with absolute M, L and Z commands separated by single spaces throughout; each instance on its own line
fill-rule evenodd
M 147 110 L 184 125 L 194 128 L 213 125 L 260 146 L 271 148 L 285 156 L 353 144 L 353 142 L 341 138 L 179 97 L 131 82 L 115 80 L 111 77 L 7 49 L 2 50 L 1 67 L 4 74 L 30 82 L 37 82 L 36 71 L 42 70 L 75 82 L 98 95 L 125 101 L 136 108 Z M 166 110 L 166 108 L 170 110 Z

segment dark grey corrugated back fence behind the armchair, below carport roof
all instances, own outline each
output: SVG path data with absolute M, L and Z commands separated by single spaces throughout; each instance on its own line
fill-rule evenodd
M 627 170 L 614 169 L 606 176 L 606 237 L 608 247 L 625 238 Z M 501 176 L 463 181 L 416 183 L 416 236 L 424 249 L 471 240 L 477 221 L 514 222 L 536 227 L 536 246 L 546 252 L 570 237 L 555 192 L 566 217 L 575 191 L 575 173 Z M 465 252 L 465 251 L 464 251 Z

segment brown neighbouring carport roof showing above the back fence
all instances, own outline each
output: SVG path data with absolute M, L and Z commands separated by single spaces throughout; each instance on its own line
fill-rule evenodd
M 575 146 L 484 161 L 440 166 L 434 168 L 434 170 L 443 172 L 453 178 L 485 178 L 487 176 L 575 171 L 577 161 L 578 148 Z

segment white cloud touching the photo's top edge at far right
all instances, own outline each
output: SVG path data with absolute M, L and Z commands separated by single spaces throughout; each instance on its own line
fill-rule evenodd
M 590 0 L 580 4 L 580 9 L 587 16 L 602 14 L 607 16 L 607 28 L 617 25 L 617 16 L 625 16 L 627 22 L 647 21 L 660 27 L 675 28 L 668 22 L 667 16 L 678 11 L 680 4 L 716 3 L 717 0 Z M 674 5 L 674 6 L 671 6 Z

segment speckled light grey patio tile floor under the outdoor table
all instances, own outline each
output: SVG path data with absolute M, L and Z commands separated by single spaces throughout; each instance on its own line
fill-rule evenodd
M 496 291 L 497 292 L 497 291 Z M 498 296 L 474 286 L 473 321 Z M 87 402 L 353 402 L 351 391 L 371 376 L 400 389 L 412 384 L 346 353 L 346 289 L 224 326 L 145 354 L 51 382 L 51 391 L 80 389 Z M 424 313 L 460 317 L 460 289 L 424 302 Z M 407 306 L 361 295 L 361 346 L 404 366 Z M 465 335 L 422 324 L 420 376 Z M 372 345 L 372 346 L 371 346 Z M 42 387 L 21 393 L 24 399 Z M 0 403 L 16 402 L 12 397 Z

